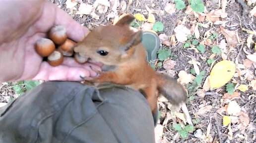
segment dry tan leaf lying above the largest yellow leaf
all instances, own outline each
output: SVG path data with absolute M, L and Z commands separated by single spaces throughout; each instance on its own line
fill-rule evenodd
M 235 47 L 239 44 L 239 39 L 237 37 L 237 31 L 229 31 L 224 29 L 224 27 L 220 27 L 220 32 L 225 36 L 228 45 Z

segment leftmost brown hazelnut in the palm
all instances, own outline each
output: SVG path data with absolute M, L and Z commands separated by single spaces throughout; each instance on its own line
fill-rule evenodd
M 47 57 L 54 52 L 55 44 L 48 38 L 40 38 L 36 41 L 35 50 L 40 56 Z

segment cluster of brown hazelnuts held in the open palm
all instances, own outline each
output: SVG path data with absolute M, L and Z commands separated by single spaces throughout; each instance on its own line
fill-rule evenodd
M 62 64 L 64 56 L 72 57 L 77 63 L 83 64 L 88 58 L 75 53 L 75 45 L 76 42 L 67 38 L 65 28 L 58 25 L 50 29 L 48 38 L 40 38 L 36 41 L 35 50 L 54 67 Z

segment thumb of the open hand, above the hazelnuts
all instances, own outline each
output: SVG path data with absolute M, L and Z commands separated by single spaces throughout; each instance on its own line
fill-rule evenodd
M 78 22 L 73 20 L 70 15 L 68 15 L 66 12 L 64 12 L 56 5 L 55 7 L 55 25 L 63 25 L 66 28 L 67 36 L 69 38 L 71 38 L 74 41 L 81 41 L 85 36 L 87 36 L 89 30 L 86 27 L 81 26 Z

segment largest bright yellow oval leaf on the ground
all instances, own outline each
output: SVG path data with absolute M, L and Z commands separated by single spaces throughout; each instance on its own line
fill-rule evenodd
M 235 69 L 235 63 L 232 61 L 223 60 L 217 63 L 209 75 L 211 88 L 226 84 L 233 77 Z

